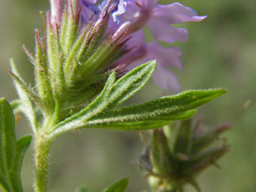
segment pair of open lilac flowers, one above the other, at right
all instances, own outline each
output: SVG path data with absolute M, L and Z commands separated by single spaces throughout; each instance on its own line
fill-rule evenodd
M 155 82 L 165 90 L 173 92 L 180 91 L 180 84 L 177 77 L 166 69 L 166 66 L 182 70 L 180 57 L 182 52 L 176 47 L 163 48 L 157 42 L 146 44 L 142 34 L 138 32 L 143 26 L 148 25 L 156 40 L 174 42 L 188 40 L 188 31 L 185 28 L 174 28 L 170 24 L 178 24 L 188 21 L 201 21 L 206 16 L 196 16 L 191 8 L 182 6 L 179 3 L 170 5 L 158 5 L 158 0 L 129 0 L 126 14 L 123 16 L 126 21 L 116 30 L 114 38 L 123 34 L 132 35 L 126 46 L 130 52 L 121 58 L 117 64 L 130 64 L 138 66 L 143 62 L 157 60 L 157 68 L 153 74 Z M 114 24 L 112 24 L 114 25 Z M 116 28 L 113 26 L 112 28 Z M 130 68 L 130 67 L 129 67 Z

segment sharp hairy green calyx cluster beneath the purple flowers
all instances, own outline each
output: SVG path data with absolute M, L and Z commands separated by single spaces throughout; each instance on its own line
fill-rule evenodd
M 42 110 L 51 116 L 58 105 L 57 119 L 64 119 L 88 105 L 103 89 L 108 76 L 119 68 L 110 68 L 122 53 L 123 42 L 104 36 L 108 17 L 101 23 L 83 26 L 79 12 L 65 6 L 61 27 L 52 27 L 50 16 L 43 37 L 36 30 L 35 53 L 25 51 L 34 65 L 35 86 L 30 89 L 14 73 L 12 78 Z M 118 76 L 120 77 L 120 76 Z

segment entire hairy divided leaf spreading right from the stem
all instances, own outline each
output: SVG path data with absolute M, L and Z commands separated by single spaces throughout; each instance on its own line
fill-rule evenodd
M 63 132 L 76 128 L 95 126 L 106 129 L 115 127 L 118 130 L 133 130 L 129 129 L 129 124 L 123 123 L 170 122 L 171 120 L 188 119 L 195 114 L 194 108 L 227 92 L 224 89 L 190 90 L 178 95 L 166 96 L 142 104 L 116 109 L 116 106 L 146 84 L 154 68 L 155 62 L 148 62 L 135 68 L 116 83 L 114 83 L 115 74 L 111 74 L 101 94 L 87 108 L 57 124 L 52 129 L 49 137 L 55 138 Z M 113 126 L 113 123 L 120 124 L 119 128 Z M 153 125 L 152 122 L 150 126 L 152 128 L 158 127 Z M 146 129 L 148 128 L 137 126 L 134 130 Z

